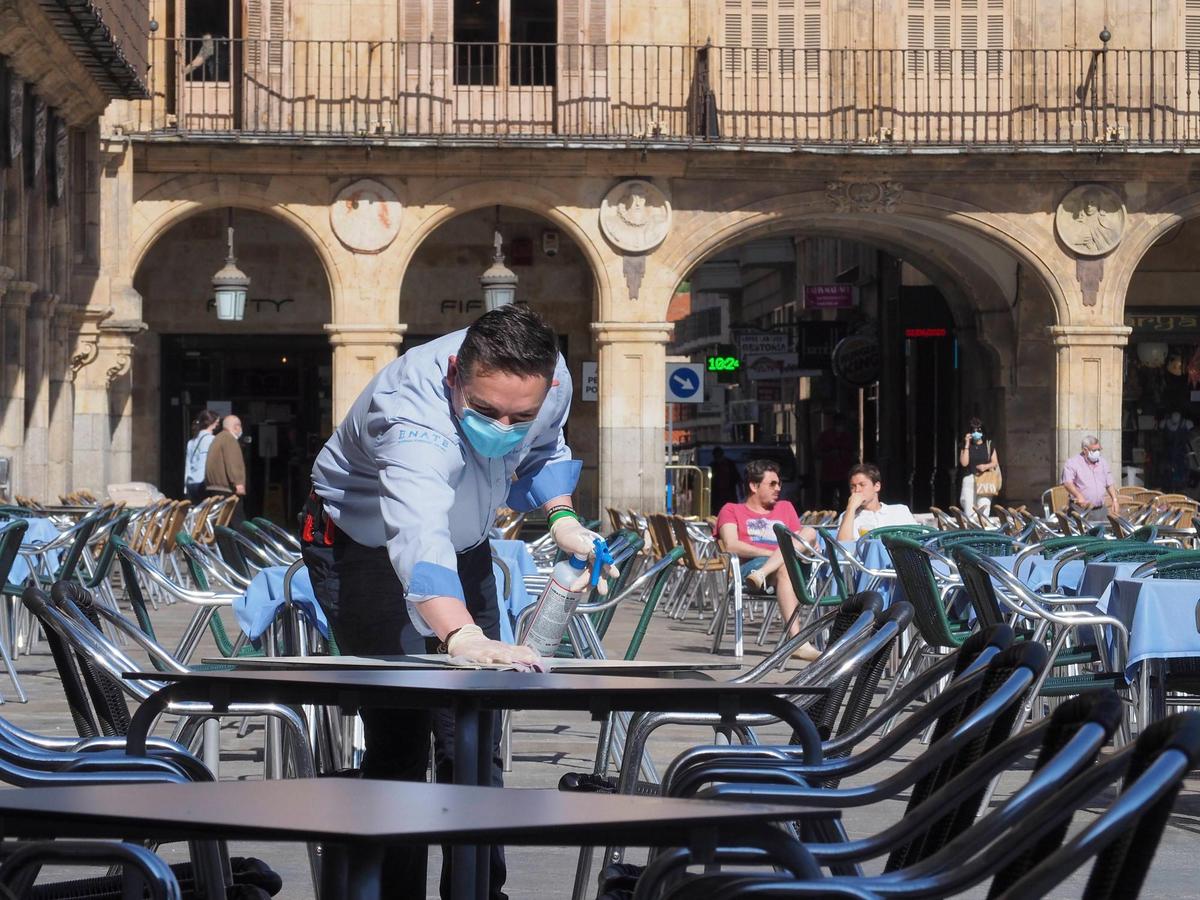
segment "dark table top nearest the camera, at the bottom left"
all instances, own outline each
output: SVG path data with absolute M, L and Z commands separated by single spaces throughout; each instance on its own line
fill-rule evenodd
M 676 846 L 697 828 L 829 817 L 805 806 L 360 779 L 0 790 L 6 835 Z

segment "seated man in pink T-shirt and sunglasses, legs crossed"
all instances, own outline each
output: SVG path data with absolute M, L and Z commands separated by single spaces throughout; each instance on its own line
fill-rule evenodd
M 761 590 L 769 580 L 775 589 L 779 611 L 787 623 L 787 632 L 794 637 L 800 632 L 799 617 L 794 620 L 792 618 L 797 606 L 796 590 L 784 569 L 784 558 L 775 539 L 775 522 L 781 522 L 794 532 L 800 527 L 800 517 L 791 503 L 779 499 L 779 467 L 775 463 L 752 460 L 746 463 L 745 473 L 745 503 L 726 503 L 721 506 L 716 516 L 716 536 L 727 552 L 738 556 L 742 574 L 748 582 Z M 792 655 L 815 660 L 821 652 L 805 643 Z

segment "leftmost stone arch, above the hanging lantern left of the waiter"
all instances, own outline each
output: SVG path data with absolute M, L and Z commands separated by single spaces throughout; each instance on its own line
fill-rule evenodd
M 154 245 L 185 218 L 227 206 L 253 210 L 286 222 L 305 238 L 320 260 L 329 281 L 331 320 L 338 320 L 343 292 L 341 266 L 332 250 L 337 242 L 336 238 L 306 216 L 294 198 L 283 200 L 275 197 L 268 186 L 257 181 L 236 179 L 235 181 L 236 191 L 233 191 L 222 190 L 220 179 L 192 182 L 187 179 L 172 179 L 138 197 L 133 205 L 133 239 L 128 268 L 131 277 L 138 271 Z M 311 205 L 328 210 L 329 197 L 313 196 L 311 199 Z M 160 204 L 164 205 L 160 208 Z

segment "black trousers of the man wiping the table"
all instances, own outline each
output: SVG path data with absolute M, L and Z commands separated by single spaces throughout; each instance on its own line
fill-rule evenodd
M 310 504 L 312 502 L 310 500 Z M 408 617 L 404 588 L 384 547 L 365 547 L 337 528 L 332 546 L 324 546 L 324 529 L 304 545 L 304 559 L 317 600 L 329 617 L 342 652 L 353 655 L 434 653 L 437 638 L 422 637 Z M 500 636 L 492 548 L 485 540 L 458 554 L 458 577 L 475 624 L 492 640 Z M 454 714 L 449 709 L 364 709 L 366 754 L 364 778 L 424 781 L 433 733 L 437 781 L 454 781 Z M 499 756 L 499 713 L 493 721 L 492 784 L 503 786 Z M 418 812 L 419 815 L 419 812 Z M 450 848 L 442 850 L 442 896 L 450 896 Z M 424 847 L 396 847 L 384 858 L 384 896 L 396 900 L 425 896 L 427 853 Z M 492 847 L 491 896 L 504 900 L 508 871 L 503 847 Z

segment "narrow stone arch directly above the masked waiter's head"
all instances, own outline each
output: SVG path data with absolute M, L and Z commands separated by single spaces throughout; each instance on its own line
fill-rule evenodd
M 604 319 L 612 305 L 608 264 L 614 258 L 614 254 L 598 234 L 592 233 L 577 218 L 568 214 L 566 210 L 570 206 L 564 202 L 563 197 L 536 185 L 521 181 L 472 181 L 458 185 L 434 197 L 420 200 L 409 197 L 406 212 L 420 209 L 425 211 L 425 216 L 413 224 L 403 245 L 397 251 L 398 259 L 396 262 L 398 271 L 404 272 L 408 270 L 413 256 L 439 227 L 457 216 L 497 205 L 512 206 L 533 212 L 563 229 L 580 248 L 588 263 L 595 288 L 593 317 Z M 589 210 L 583 209 L 581 211 L 586 212 Z M 397 290 L 397 310 L 398 302 L 400 292 Z

